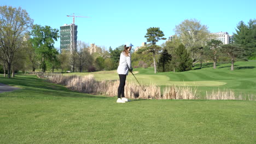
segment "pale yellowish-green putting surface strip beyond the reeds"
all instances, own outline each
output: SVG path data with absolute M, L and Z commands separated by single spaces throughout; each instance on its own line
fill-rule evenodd
M 111 71 L 98 71 L 96 73 L 75 73 L 75 75 L 88 75 L 92 74 L 95 76 L 97 81 L 103 80 L 119 80 L 116 70 Z M 140 75 L 138 71 L 133 71 L 137 80 L 142 85 L 158 85 L 158 86 L 222 86 L 226 82 L 220 81 L 171 81 L 170 78 L 166 75 Z M 128 82 L 136 82 L 135 78 L 131 73 L 127 76 Z

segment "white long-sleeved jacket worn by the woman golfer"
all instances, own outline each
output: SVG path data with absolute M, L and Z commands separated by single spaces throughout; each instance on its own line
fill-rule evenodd
M 132 70 L 131 54 L 129 53 L 129 55 L 126 57 L 124 52 L 121 52 L 117 72 L 119 75 L 128 75 L 129 70 Z

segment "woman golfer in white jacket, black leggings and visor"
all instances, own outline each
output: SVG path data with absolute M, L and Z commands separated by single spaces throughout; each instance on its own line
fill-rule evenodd
M 131 43 L 127 43 L 124 45 L 124 51 L 120 54 L 120 60 L 119 60 L 119 66 L 118 66 L 118 75 L 120 79 L 119 87 L 118 87 L 118 100 L 117 103 L 125 103 L 129 101 L 124 96 L 124 86 L 125 86 L 125 80 L 126 76 L 128 75 L 128 71 L 132 72 L 131 67 L 131 53 L 130 50 L 132 48 Z

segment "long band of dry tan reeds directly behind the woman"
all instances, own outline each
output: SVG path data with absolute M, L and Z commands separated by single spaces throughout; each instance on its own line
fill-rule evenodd
M 73 91 L 92 94 L 104 94 L 110 97 L 117 96 L 119 81 L 96 81 L 94 75 L 86 76 L 63 76 L 61 74 L 50 77 L 54 83 L 65 85 Z M 146 89 L 146 91 L 143 91 Z M 127 83 L 125 86 L 125 97 L 132 99 L 196 99 L 196 90 L 189 87 L 166 87 L 161 92 L 159 86 L 150 85 L 142 87 L 136 83 Z

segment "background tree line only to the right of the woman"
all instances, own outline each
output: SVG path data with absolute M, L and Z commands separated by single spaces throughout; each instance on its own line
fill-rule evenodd
M 230 44 L 223 44 L 222 41 L 214 38 L 216 35 L 211 35 L 208 27 L 196 19 L 184 20 L 174 28 L 174 31 L 176 35 L 171 41 L 158 46 L 155 42 L 165 39 L 164 32 L 160 31 L 159 27 L 148 28 L 145 37 L 149 44 L 133 54 L 135 59 L 133 65 L 154 66 L 156 73 L 156 70 L 159 72 L 190 70 L 196 63 L 200 63 L 202 68 L 203 62 L 213 62 L 213 69 L 216 69 L 217 62 L 222 60 L 231 62 L 230 69 L 234 70 L 237 59 L 244 61 L 256 59 L 255 19 L 249 20 L 248 25 L 240 21 Z M 151 62 L 150 55 L 153 56 Z

